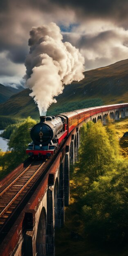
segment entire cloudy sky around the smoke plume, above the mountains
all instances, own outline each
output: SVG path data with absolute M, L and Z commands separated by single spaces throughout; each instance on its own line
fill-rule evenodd
M 0 0 L 0 83 L 22 83 L 31 27 L 56 22 L 85 70 L 128 58 L 128 0 Z

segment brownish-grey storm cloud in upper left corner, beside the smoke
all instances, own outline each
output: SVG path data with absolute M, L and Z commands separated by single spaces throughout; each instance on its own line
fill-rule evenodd
M 13 63 L 25 63 L 31 27 L 44 23 L 43 14 L 55 7 L 47 0 L 0 0 L 0 52 L 8 52 Z

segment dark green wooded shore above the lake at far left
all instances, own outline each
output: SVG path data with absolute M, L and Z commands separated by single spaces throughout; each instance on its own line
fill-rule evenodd
M 4 130 L 7 126 L 11 124 L 18 124 L 25 119 L 21 119 L 18 117 L 5 117 L 5 116 L 0 116 L 0 130 Z

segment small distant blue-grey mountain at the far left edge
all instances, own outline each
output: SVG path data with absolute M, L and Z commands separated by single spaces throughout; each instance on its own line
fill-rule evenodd
M 13 94 L 20 92 L 23 88 L 12 88 L 4 86 L 0 83 L 0 103 L 7 101 Z

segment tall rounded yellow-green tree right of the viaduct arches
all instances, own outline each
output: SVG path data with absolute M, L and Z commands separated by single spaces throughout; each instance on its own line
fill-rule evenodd
M 80 172 L 85 173 L 91 181 L 103 175 L 108 165 L 113 161 L 112 147 L 106 128 L 101 121 L 94 124 L 92 121 L 81 128 L 81 145 L 79 149 Z M 83 136 L 83 133 L 85 135 Z

